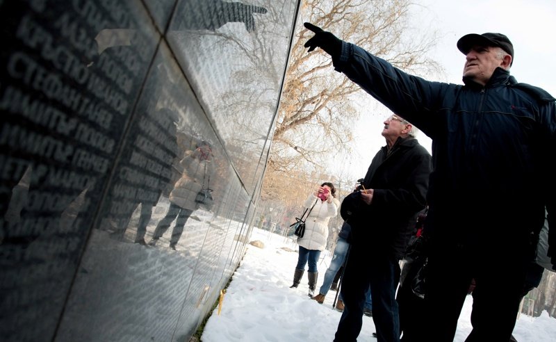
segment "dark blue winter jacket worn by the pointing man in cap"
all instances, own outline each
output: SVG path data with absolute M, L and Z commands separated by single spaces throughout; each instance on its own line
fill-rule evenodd
M 426 81 L 347 42 L 334 67 L 432 138 L 431 234 L 515 252 L 541 229 L 545 204 L 555 217 L 556 106 L 547 92 L 501 68 L 486 86 Z

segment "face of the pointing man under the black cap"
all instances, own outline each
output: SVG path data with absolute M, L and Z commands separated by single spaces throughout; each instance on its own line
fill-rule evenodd
M 502 66 L 504 59 L 500 57 L 500 48 L 481 47 L 476 45 L 465 57 L 464 77 L 486 85 L 497 67 Z

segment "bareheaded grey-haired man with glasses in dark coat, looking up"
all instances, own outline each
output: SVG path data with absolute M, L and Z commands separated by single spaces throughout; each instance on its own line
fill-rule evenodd
M 431 155 L 419 145 L 415 132 L 398 115 L 384 120 L 386 146 L 373 158 L 361 186 L 342 203 L 343 219 L 352 227 L 352 244 L 342 280 L 344 311 L 336 342 L 356 341 L 359 336 L 369 286 L 378 341 L 400 340 L 395 301 L 399 261 L 418 212 L 425 208 L 432 168 Z

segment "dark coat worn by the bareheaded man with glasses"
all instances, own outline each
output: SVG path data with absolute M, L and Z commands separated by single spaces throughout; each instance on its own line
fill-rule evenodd
M 382 147 L 362 183 L 374 189 L 373 202 L 363 205 L 363 213 L 348 222 L 351 243 L 401 259 L 417 214 L 425 208 L 431 170 L 431 155 L 415 138 L 398 138 L 390 154 Z

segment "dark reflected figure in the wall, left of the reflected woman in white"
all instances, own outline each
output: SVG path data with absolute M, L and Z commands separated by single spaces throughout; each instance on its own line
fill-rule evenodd
M 167 108 L 151 113 L 140 109 L 124 141 L 115 167 L 115 179 L 104 204 L 101 227 L 122 240 L 131 217 L 140 206 L 135 243 L 146 245 L 145 234 L 161 193 L 170 183 L 172 163 L 178 155 L 177 114 Z

